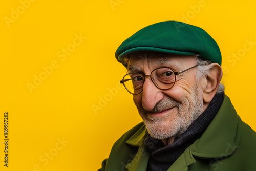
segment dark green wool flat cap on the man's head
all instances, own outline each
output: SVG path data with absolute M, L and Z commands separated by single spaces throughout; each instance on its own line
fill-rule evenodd
M 122 63 L 132 52 L 151 51 L 176 55 L 197 55 L 221 65 L 216 41 L 203 29 L 182 22 L 166 21 L 147 26 L 127 38 L 116 50 Z

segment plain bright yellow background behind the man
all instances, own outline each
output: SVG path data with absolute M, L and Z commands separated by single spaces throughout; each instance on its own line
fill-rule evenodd
M 242 120 L 256 130 L 255 7 L 256 1 L 249 0 L 1 0 L 0 169 L 100 168 L 113 143 L 142 121 L 132 95 L 119 87 L 125 69 L 115 50 L 139 29 L 164 20 L 199 26 L 217 41 L 225 92 Z M 86 39 L 75 40 L 80 35 Z M 66 59 L 60 57 L 62 48 L 73 48 Z M 44 75 L 42 67 L 54 61 L 55 68 Z M 40 74 L 45 80 L 31 93 L 27 84 Z M 8 168 L 3 162 L 6 111 Z

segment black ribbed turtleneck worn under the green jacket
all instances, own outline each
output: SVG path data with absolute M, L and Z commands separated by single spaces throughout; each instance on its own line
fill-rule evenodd
M 216 94 L 207 109 L 188 127 L 188 129 L 177 137 L 174 142 L 164 146 L 162 140 L 157 140 L 148 136 L 145 145 L 151 155 L 147 164 L 147 171 L 166 171 L 185 151 L 202 136 L 212 119 L 220 109 L 224 100 L 224 93 Z M 153 145 L 154 144 L 154 145 Z

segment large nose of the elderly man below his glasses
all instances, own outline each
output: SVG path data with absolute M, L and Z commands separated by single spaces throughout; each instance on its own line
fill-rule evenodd
M 150 77 L 145 77 L 142 91 L 142 106 L 146 111 L 151 111 L 157 102 L 163 99 L 163 93 L 152 82 Z

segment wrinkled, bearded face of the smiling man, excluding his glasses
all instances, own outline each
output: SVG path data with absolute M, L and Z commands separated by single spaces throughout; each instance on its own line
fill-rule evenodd
M 194 56 L 148 58 L 145 55 L 132 58 L 128 72 L 136 69 L 150 75 L 159 67 L 170 67 L 178 72 L 195 65 Z M 178 136 L 203 112 L 203 90 L 196 80 L 196 71 L 194 68 L 177 75 L 174 87 L 169 90 L 160 90 L 151 78 L 145 78 L 143 91 L 134 95 L 133 100 L 152 137 L 166 139 Z

